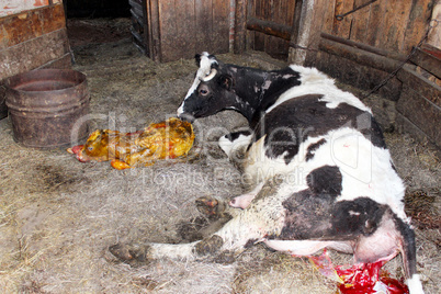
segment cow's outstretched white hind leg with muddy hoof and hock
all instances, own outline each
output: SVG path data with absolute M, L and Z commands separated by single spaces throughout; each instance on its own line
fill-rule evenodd
M 202 240 L 189 244 L 144 244 L 111 246 L 110 251 L 125 262 L 146 262 L 150 259 L 206 259 L 225 262 L 242 252 L 248 246 L 278 235 L 283 225 L 282 206 L 276 205 L 273 195 L 274 181 L 268 181 L 256 200 L 220 229 Z

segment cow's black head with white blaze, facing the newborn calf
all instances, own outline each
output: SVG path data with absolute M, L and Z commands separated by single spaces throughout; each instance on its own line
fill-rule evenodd
M 234 109 L 236 94 L 231 90 L 233 77 L 220 61 L 204 52 L 195 56 L 199 69 L 178 116 L 190 122 L 222 110 Z

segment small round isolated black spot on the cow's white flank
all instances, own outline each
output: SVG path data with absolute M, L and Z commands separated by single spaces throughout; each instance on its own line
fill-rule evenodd
M 315 194 L 340 195 L 341 180 L 340 169 L 331 166 L 317 168 L 306 176 L 306 182 Z

